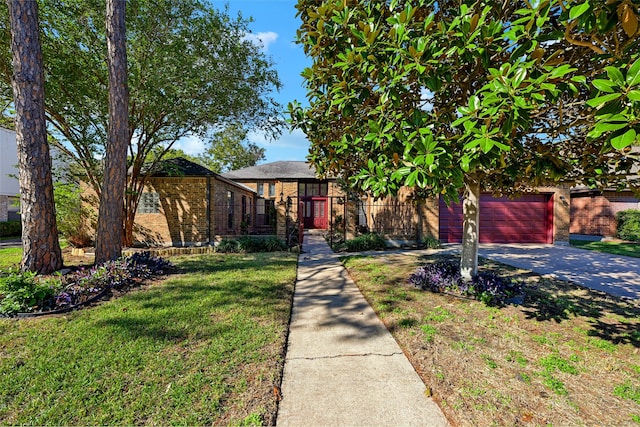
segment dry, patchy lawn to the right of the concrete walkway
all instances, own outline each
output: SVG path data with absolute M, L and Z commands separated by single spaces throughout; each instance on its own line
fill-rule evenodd
M 523 305 L 407 283 L 436 259 L 344 262 L 454 425 L 640 425 L 638 301 L 486 260 L 481 269 L 526 281 Z

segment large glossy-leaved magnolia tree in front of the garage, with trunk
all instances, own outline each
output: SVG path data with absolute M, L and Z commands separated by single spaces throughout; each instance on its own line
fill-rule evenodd
M 587 137 L 597 114 L 589 105 L 600 104 L 585 103 L 595 77 L 613 73 L 606 66 L 633 75 L 637 29 L 624 27 L 637 6 L 595 3 L 299 0 L 310 106 L 290 113 L 312 142 L 310 161 L 376 197 L 401 186 L 448 202 L 462 193 L 469 280 L 481 190 L 515 195 L 566 177 L 602 185 L 633 166 L 607 143 L 613 129 Z M 617 56 L 590 47 L 597 25 L 582 22 L 587 15 L 611 22 L 594 39 L 624 46 Z M 627 80 L 628 92 L 637 83 Z

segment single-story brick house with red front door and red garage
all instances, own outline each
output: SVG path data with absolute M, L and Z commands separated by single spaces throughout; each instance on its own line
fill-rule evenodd
M 516 199 L 481 197 L 480 240 L 486 243 L 562 243 L 569 239 L 568 187 L 539 188 Z M 150 245 L 210 244 L 240 234 L 289 240 L 298 219 L 305 229 L 382 234 L 392 245 L 426 238 L 459 242 L 462 208 L 442 200 L 346 197 L 335 178 L 319 179 L 308 163 L 280 161 L 224 174 L 184 159 L 163 162 L 142 194 L 136 241 Z

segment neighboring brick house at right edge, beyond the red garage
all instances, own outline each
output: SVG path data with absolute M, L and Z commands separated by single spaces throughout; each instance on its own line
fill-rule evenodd
M 616 214 L 626 209 L 640 209 L 640 199 L 631 191 L 571 190 L 571 233 L 614 237 Z

